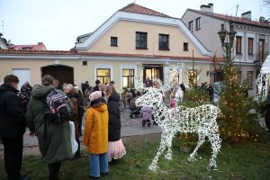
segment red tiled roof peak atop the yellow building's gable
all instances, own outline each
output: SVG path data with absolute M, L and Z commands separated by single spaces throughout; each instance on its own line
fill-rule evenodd
M 161 17 L 171 17 L 166 14 L 156 12 L 154 10 L 148 9 L 147 7 L 143 7 L 135 3 L 128 4 L 127 6 L 121 8 L 121 10 L 119 11 L 130 12 L 134 14 L 148 14 L 148 15 L 156 15 L 156 16 L 161 16 Z

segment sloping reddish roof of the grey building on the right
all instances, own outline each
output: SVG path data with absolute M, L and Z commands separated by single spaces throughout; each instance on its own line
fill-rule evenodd
M 220 20 L 223 20 L 223 21 L 244 23 L 244 24 L 248 24 L 248 25 L 254 25 L 254 26 L 261 26 L 261 27 L 270 28 L 270 25 L 267 24 L 267 23 L 260 23 L 260 22 L 256 22 L 256 21 L 253 21 L 253 20 L 249 20 L 247 18 L 234 17 L 234 16 L 224 15 L 224 14 L 214 14 L 214 13 L 211 13 L 211 12 L 204 12 L 204 11 L 194 10 L 194 9 L 187 9 L 187 11 L 207 15 L 207 16 L 217 18 L 217 19 L 220 19 Z

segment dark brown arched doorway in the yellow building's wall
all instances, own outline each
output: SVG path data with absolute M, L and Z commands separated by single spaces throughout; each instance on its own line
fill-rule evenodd
M 50 75 L 58 79 L 59 84 L 68 83 L 74 85 L 73 67 L 63 65 L 49 65 L 41 67 L 41 76 Z

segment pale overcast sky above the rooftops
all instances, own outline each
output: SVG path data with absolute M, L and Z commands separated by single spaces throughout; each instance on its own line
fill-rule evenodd
M 0 0 L 0 31 L 13 44 L 43 42 L 47 49 L 68 50 L 76 37 L 97 29 L 122 7 L 130 3 L 181 18 L 187 8 L 200 9 L 213 3 L 217 14 L 238 16 L 252 11 L 252 19 L 268 19 L 270 6 L 263 0 Z

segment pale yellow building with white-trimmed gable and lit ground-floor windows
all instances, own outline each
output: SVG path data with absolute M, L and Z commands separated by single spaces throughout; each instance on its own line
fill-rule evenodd
M 0 50 L 0 82 L 5 75 L 15 74 L 21 85 L 25 81 L 35 85 L 50 74 L 60 83 L 75 85 L 113 80 L 121 91 L 137 88 L 146 77 L 166 84 L 171 67 L 182 63 L 180 83 L 189 84 L 186 71 L 193 64 L 202 70 L 197 83 L 211 82 L 211 52 L 180 19 L 129 4 L 94 32 L 78 36 L 72 50 Z

